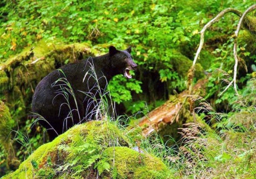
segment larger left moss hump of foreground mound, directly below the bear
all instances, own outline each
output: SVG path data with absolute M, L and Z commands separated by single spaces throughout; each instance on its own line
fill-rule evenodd
M 66 133 L 56 137 L 53 142 L 37 148 L 19 166 L 18 170 L 5 175 L 4 178 L 40 178 L 43 176 L 61 177 L 69 175 L 71 171 L 77 172 L 76 170 L 80 166 L 87 169 L 85 161 L 96 162 L 92 158 L 100 155 L 103 149 L 113 145 L 130 145 L 127 137 L 114 124 L 107 121 L 91 121 L 75 125 Z M 88 146 L 89 148 L 86 148 Z M 73 161 L 76 161 L 75 164 Z M 78 174 L 86 176 L 88 172 L 78 172 Z

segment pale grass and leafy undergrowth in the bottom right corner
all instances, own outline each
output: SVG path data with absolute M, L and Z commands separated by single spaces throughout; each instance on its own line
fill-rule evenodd
M 184 124 L 183 145 L 176 155 L 179 177 L 256 177 L 256 108 L 246 102 L 248 95 L 251 93 L 230 102 L 233 110 L 229 113 L 217 113 L 205 99 L 194 96 L 193 100 L 200 102 L 197 110 L 201 118 L 213 121 L 209 123 L 211 128 L 197 123 Z

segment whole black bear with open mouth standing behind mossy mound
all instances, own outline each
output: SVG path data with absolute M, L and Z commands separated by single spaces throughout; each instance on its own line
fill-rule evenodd
M 39 123 L 48 129 L 50 140 L 74 124 L 92 119 L 100 96 L 114 75 L 132 78 L 129 71 L 137 65 L 131 50 L 129 47 L 121 51 L 110 46 L 109 53 L 66 64 L 39 82 L 32 99 L 32 111 L 44 118 Z

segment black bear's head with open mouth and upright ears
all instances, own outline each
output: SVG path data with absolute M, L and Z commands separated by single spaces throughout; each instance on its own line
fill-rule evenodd
M 109 47 L 110 63 L 115 74 L 123 74 L 126 78 L 132 78 L 130 71 L 135 70 L 137 64 L 132 60 L 131 51 L 131 47 L 124 51 L 117 50 L 114 46 Z

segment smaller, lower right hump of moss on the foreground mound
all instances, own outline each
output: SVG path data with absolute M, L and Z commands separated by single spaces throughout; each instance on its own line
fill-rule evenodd
M 161 160 L 127 147 L 107 148 L 103 151 L 104 159 L 108 159 L 112 166 L 110 178 L 170 178 L 170 173 Z

